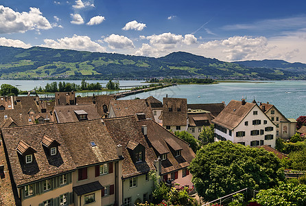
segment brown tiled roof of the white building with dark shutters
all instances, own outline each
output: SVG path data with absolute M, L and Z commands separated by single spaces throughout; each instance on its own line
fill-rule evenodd
M 229 130 L 233 130 L 242 122 L 254 106 L 257 106 L 257 104 L 246 102 L 246 104 L 242 105 L 242 101 L 231 100 L 212 122 Z

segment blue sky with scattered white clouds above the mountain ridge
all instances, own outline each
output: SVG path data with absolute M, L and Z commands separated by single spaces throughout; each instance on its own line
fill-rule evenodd
M 0 45 L 306 63 L 305 1 L 0 1 Z

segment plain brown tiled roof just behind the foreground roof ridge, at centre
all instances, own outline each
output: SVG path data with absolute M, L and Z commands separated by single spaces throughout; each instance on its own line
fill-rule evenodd
M 146 118 L 154 119 L 152 108 L 147 100 L 111 100 L 110 106 L 112 106 L 116 117 L 145 113 Z

